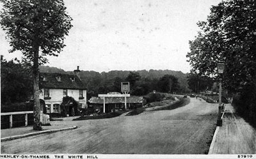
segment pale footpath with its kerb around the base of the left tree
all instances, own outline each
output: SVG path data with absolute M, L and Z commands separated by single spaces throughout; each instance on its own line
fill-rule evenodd
M 33 126 L 19 127 L 19 128 L 8 128 L 1 130 L 1 141 L 20 139 L 23 137 L 29 137 L 34 135 L 40 135 L 43 133 L 60 132 L 63 130 L 76 129 L 77 126 L 71 126 L 65 124 L 65 120 L 72 121 L 76 117 L 65 117 L 62 119 L 56 119 L 57 121 L 51 121 L 51 126 L 42 126 L 42 130 L 33 130 Z M 58 121 L 61 120 L 61 121 Z

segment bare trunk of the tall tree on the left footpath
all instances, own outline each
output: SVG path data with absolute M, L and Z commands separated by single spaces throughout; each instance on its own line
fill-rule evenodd
M 34 125 L 33 130 L 42 130 L 42 123 L 40 121 L 40 100 L 39 100 L 39 70 L 38 70 L 38 53 L 39 47 L 35 49 L 35 56 L 33 60 L 33 80 L 34 80 Z

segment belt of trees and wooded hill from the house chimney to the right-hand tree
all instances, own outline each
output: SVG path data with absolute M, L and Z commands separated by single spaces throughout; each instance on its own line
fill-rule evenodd
M 147 95 L 153 90 L 164 93 L 189 92 L 186 74 L 173 73 L 170 70 L 164 71 L 111 71 L 107 73 L 81 71 L 80 75 L 81 80 L 88 88 L 88 98 L 101 93 L 120 92 L 121 82 L 130 82 L 130 93 L 136 96 Z

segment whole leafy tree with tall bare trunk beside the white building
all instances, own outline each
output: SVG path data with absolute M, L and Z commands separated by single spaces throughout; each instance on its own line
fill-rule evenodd
M 12 47 L 9 52 L 20 50 L 33 70 L 34 130 L 41 130 L 39 103 L 40 64 L 47 63 L 45 56 L 58 56 L 64 45 L 65 35 L 72 27 L 63 0 L 1 0 L 1 27 Z M 40 54 L 39 54 L 40 51 Z

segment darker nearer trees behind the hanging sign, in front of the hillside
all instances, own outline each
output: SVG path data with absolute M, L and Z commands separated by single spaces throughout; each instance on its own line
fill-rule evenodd
M 180 93 L 182 89 L 178 82 L 178 78 L 173 75 L 164 75 L 159 79 L 150 79 L 141 77 L 138 72 L 129 72 L 127 77 L 115 77 L 113 79 L 102 80 L 102 85 L 99 86 L 98 93 L 120 92 L 121 82 L 130 82 L 130 93 L 135 96 L 143 96 L 153 90 L 163 93 Z M 100 83 L 100 82 L 99 82 Z M 96 88 L 97 86 L 95 86 Z M 92 88 L 93 90 L 93 88 Z M 95 92 L 93 95 L 95 95 Z M 91 93 L 90 91 L 88 93 Z

